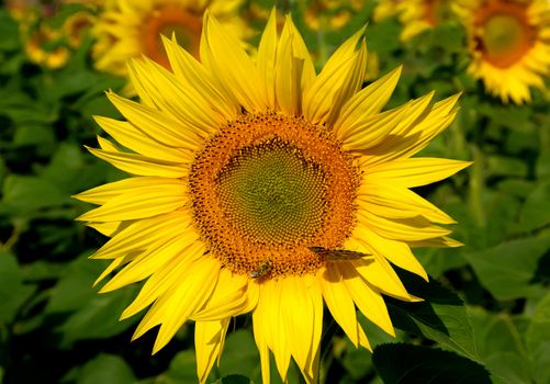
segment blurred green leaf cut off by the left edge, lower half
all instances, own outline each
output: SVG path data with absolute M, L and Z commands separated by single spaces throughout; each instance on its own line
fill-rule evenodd
M 34 286 L 23 284 L 23 273 L 15 257 L 0 251 L 0 328 L 13 320 L 33 293 Z

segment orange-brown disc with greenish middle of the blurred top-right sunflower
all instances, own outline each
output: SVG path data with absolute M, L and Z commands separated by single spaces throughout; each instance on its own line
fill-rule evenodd
M 525 5 L 504 3 L 500 9 L 481 12 L 478 49 L 486 61 L 508 68 L 532 47 L 535 31 L 527 20 Z

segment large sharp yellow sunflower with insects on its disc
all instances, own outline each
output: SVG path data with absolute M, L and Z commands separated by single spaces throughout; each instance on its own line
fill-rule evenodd
M 274 11 L 256 60 L 206 12 L 201 61 L 176 38 L 172 71 L 128 68 L 141 102 L 112 92 L 126 121 L 97 117 L 97 157 L 132 174 L 77 195 L 101 205 L 79 217 L 111 237 L 101 292 L 146 280 L 122 319 L 148 307 L 134 339 L 160 326 L 157 352 L 194 320 L 198 375 L 220 358 L 233 316 L 251 313 L 262 379 L 291 358 L 316 382 L 324 303 L 356 346 L 369 348 L 356 308 L 394 335 L 383 295 L 411 296 L 392 263 L 427 279 L 411 247 L 454 247 L 451 217 L 409 188 L 469 163 L 411 158 L 454 118 L 458 97 L 434 93 L 381 112 L 397 68 L 361 89 L 364 30 L 316 74 L 290 16 Z

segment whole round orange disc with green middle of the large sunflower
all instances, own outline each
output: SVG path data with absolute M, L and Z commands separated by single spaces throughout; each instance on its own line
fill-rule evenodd
M 190 185 L 211 252 L 255 278 L 313 273 L 312 247 L 350 235 L 358 169 L 324 126 L 276 112 L 243 114 L 197 155 Z

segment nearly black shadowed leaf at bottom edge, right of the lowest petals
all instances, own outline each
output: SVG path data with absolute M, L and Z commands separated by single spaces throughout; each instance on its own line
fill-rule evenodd
M 491 384 L 483 365 L 453 352 L 412 345 L 383 345 L 372 362 L 385 384 L 475 383 Z

